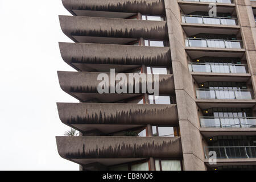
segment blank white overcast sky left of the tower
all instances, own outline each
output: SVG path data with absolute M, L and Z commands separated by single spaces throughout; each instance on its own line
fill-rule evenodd
M 60 158 L 56 135 L 68 129 L 56 102 L 77 102 L 57 71 L 73 71 L 58 42 L 72 42 L 58 15 L 61 0 L 0 0 L 0 170 L 78 170 Z

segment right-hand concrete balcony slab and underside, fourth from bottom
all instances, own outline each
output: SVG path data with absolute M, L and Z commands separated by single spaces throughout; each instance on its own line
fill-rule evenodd
M 231 82 L 247 82 L 251 79 L 250 74 L 246 73 L 203 73 L 192 72 L 193 78 L 197 83 L 208 81 L 231 81 Z

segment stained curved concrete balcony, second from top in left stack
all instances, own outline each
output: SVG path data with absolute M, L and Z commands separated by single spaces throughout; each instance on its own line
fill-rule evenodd
M 61 29 L 75 42 L 126 44 L 138 40 L 167 40 L 166 21 L 59 16 Z

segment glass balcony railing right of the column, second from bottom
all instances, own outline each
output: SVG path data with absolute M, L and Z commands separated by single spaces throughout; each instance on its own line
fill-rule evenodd
M 256 117 L 201 117 L 201 127 L 256 128 Z

